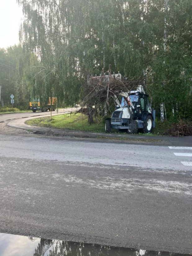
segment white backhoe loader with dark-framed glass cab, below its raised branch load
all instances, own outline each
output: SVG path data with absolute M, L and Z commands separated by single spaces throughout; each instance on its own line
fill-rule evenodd
M 151 133 L 155 127 L 155 110 L 152 112 L 149 95 L 144 93 L 143 86 L 139 85 L 136 91 L 121 92 L 120 95 L 121 102 L 116 95 L 113 97 L 118 109 L 105 120 L 105 131 L 110 132 L 113 128 L 132 134 L 142 129 L 145 133 Z

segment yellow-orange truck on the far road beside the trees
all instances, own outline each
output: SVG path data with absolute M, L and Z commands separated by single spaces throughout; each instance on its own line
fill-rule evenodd
M 40 99 L 32 99 L 30 100 L 29 102 L 29 106 L 30 106 L 30 109 L 32 109 L 33 112 L 36 112 L 36 111 L 42 111 L 42 112 L 45 112 L 45 111 L 55 111 L 56 109 L 56 102 L 57 102 L 57 98 L 54 97 L 54 98 L 50 98 L 48 99 L 48 104 L 44 104 L 43 106 L 40 105 Z

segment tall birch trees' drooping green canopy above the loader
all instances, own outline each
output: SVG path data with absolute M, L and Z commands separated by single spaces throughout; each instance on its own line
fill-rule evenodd
M 158 112 L 161 102 L 168 115 L 186 109 L 192 77 L 190 0 L 17 1 L 25 15 L 22 47 L 40 61 L 36 91 L 72 105 L 87 76 L 111 64 L 112 71 L 130 79 L 145 77 Z

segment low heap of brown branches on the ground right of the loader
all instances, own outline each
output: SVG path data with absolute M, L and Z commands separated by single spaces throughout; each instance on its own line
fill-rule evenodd
M 178 120 L 166 132 L 168 136 L 191 136 L 192 135 L 192 122 L 186 120 Z

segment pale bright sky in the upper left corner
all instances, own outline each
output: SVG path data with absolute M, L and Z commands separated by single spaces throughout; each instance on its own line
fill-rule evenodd
M 0 0 L 0 48 L 19 43 L 22 18 L 22 7 L 18 6 L 16 0 Z

